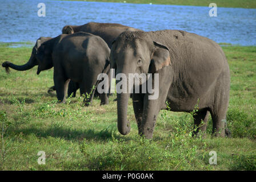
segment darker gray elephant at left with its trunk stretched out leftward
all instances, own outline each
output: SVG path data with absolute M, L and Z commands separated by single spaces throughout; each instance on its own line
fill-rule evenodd
M 9 62 L 3 67 L 11 67 L 25 71 L 38 65 L 37 75 L 46 69 L 54 67 L 54 84 L 57 98 L 65 102 L 65 90 L 69 80 L 79 85 L 80 93 L 90 93 L 97 86 L 97 76 L 108 73 L 110 49 L 99 36 L 85 32 L 72 35 L 62 34 L 56 38 L 39 38 L 33 47 L 30 60 L 21 66 Z M 93 101 L 95 89 L 90 98 L 85 100 L 89 105 Z M 107 93 L 101 94 L 101 105 L 108 104 Z

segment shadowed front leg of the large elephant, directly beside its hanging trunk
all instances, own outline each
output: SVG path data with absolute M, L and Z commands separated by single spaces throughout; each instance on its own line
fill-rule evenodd
M 139 131 L 141 131 L 141 122 L 142 122 L 142 115 L 143 115 L 143 96 L 145 94 L 134 93 L 131 95 L 133 97 L 133 110 L 134 110 L 135 119 L 138 125 L 138 129 Z

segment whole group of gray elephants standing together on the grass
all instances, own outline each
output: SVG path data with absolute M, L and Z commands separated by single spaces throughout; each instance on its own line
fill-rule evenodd
M 153 137 L 155 122 L 161 109 L 194 114 L 194 135 L 205 132 L 209 114 L 213 119 L 213 135 L 230 135 L 226 113 L 229 105 L 230 73 L 222 48 L 213 40 L 180 30 L 145 32 L 116 23 L 87 23 L 65 26 L 62 34 L 41 37 L 32 49 L 29 61 L 15 65 L 5 61 L 2 66 L 26 71 L 38 65 L 37 74 L 54 68 L 54 86 L 59 102 L 65 102 L 65 93 L 75 96 L 90 93 L 85 104 L 93 101 L 94 86 L 101 73 L 151 75 L 157 83 L 154 93 L 131 92 L 139 135 Z M 148 82 L 149 80 L 146 80 Z M 124 82 L 116 79 L 116 84 Z M 129 82 L 125 82 L 129 85 Z M 134 85 L 133 85 L 134 86 Z M 139 82 L 142 90 L 143 83 Z M 131 90 L 134 90 L 131 89 Z M 117 92 L 117 123 L 119 133 L 130 131 L 127 105 L 130 92 Z M 101 105 L 108 104 L 108 94 L 100 93 Z

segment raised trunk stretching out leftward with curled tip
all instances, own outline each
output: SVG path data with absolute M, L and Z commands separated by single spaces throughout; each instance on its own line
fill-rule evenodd
M 9 72 L 10 72 L 9 67 L 10 67 L 10 68 L 13 68 L 13 69 L 15 69 L 15 70 L 17 70 L 17 71 L 26 71 L 26 70 L 28 70 L 28 69 L 33 68 L 35 65 L 37 65 L 37 61 L 36 61 L 35 57 L 34 57 L 33 55 L 31 55 L 29 61 L 27 61 L 26 64 L 23 64 L 23 65 L 15 65 L 15 64 L 13 64 L 13 63 L 10 63 L 9 61 L 5 61 L 5 62 L 2 64 L 2 67 L 5 68 L 5 71 L 6 71 L 7 73 L 9 73 Z

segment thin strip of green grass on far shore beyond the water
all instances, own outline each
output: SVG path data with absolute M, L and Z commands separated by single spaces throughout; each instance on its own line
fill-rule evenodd
M 66 0 L 65 0 L 66 1 Z M 68 0 L 68 1 L 86 1 L 86 0 Z M 90 1 L 90 0 L 89 0 Z M 256 1 L 254 0 L 91 0 L 95 2 L 119 2 L 119 3 L 140 3 L 140 4 L 158 4 L 158 5 L 185 5 L 185 6 L 209 6 L 210 3 L 214 2 L 218 7 L 242 7 L 242 8 L 256 8 Z

